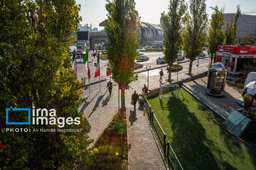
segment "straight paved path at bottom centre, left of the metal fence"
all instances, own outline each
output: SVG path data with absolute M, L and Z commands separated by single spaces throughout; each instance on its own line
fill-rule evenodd
M 127 109 L 127 137 L 131 170 L 166 169 L 143 111 Z

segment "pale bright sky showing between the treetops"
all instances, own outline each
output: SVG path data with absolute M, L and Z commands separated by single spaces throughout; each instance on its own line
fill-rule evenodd
M 161 13 L 168 11 L 169 6 L 169 0 L 135 0 L 135 2 L 136 9 L 141 16 L 140 21 L 154 24 L 160 23 Z M 92 28 L 97 27 L 102 30 L 99 23 L 107 19 L 106 0 L 77 0 L 77 4 L 81 4 L 82 21 L 80 24 L 84 26 L 86 23 L 92 23 Z M 242 14 L 256 15 L 256 0 L 206 0 L 206 12 L 210 18 L 213 9 L 209 7 L 218 5 L 219 8 L 225 8 L 224 13 L 235 13 L 238 4 L 240 4 Z

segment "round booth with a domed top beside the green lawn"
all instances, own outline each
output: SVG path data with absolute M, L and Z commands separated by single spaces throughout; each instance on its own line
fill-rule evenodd
M 224 91 L 228 70 L 224 64 L 216 62 L 208 71 L 207 88 L 210 90 Z

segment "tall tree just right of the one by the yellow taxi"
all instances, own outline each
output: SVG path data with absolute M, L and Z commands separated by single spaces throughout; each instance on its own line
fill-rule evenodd
M 190 59 L 188 74 L 191 75 L 193 61 L 203 52 L 206 42 L 208 16 L 206 14 L 206 0 L 191 0 L 190 13 L 186 13 L 183 28 L 183 50 Z

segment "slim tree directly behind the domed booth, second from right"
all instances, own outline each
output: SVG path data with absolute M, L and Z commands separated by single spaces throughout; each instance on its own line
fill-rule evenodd
M 225 41 L 225 33 L 221 30 L 221 27 L 224 25 L 223 18 L 223 9 L 218 9 L 218 6 L 215 6 L 214 13 L 211 16 L 210 28 L 208 33 L 208 47 L 210 52 L 210 67 L 213 62 L 213 54 L 215 55 L 214 62 L 216 62 L 216 51 L 218 45 L 223 45 Z

